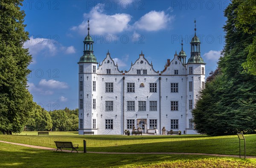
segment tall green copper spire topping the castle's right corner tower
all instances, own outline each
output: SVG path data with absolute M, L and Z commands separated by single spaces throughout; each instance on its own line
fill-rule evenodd
M 191 53 L 190 53 L 190 58 L 188 60 L 188 63 L 201 63 L 201 64 L 206 64 L 204 63 L 203 58 L 201 57 L 201 52 L 200 52 L 200 40 L 196 36 L 196 20 L 194 21 L 195 23 L 195 36 L 192 38 L 190 45 L 191 45 Z

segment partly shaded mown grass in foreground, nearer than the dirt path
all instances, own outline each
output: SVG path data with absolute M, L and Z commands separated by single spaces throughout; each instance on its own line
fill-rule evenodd
M 64 153 L 0 143 L 0 158 L 1 168 L 116 168 L 138 167 L 140 165 L 148 165 L 153 163 L 160 165 L 161 162 L 166 164 L 170 161 L 177 161 L 177 163 L 187 161 L 196 162 L 200 161 L 201 159 L 217 159 L 218 157 L 204 155 Z M 234 160 L 236 162 L 244 160 L 230 157 L 222 157 L 221 160 L 223 159 Z M 251 168 L 256 166 L 256 159 L 246 159 L 246 162 L 251 164 Z M 233 165 L 232 167 L 236 166 Z

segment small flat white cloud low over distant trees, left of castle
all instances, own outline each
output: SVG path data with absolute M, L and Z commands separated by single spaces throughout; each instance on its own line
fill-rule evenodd
M 64 89 L 64 88 L 68 88 L 67 83 L 65 82 L 60 82 L 58 80 L 46 80 L 46 79 L 42 79 L 38 86 L 43 87 L 43 88 L 57 88 L 57 89 Z

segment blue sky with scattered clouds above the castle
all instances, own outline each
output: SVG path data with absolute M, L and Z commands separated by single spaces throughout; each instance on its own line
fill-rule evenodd
M 94 55 L 102 62 L 106 53 L 128 70 L 141 51 L 156 71 L 162 71 L 167 59 L 183 49 L 190 57 L 194 19 L 201 40 L 201 56 L 206 73 L 216 68 L 224 46 L 223 11 L 228 0 L 52 0 L 24 1 L 26 31 L 33 63 L 28 76 L 34 101 L 46 110 L 78 107 L 78 64 L 83 40 L 94 40 Z M 188 59 L 187 58 L 187 59 Z

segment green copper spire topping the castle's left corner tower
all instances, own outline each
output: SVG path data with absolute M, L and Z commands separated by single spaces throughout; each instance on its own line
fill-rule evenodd
M 84 38 L 84 54 L 78 63 L 97 63 L 96 57 L 93 54 L 93 38 L 90 36 L 90 24 L 88 19 L 88 35 Z

